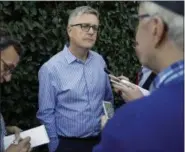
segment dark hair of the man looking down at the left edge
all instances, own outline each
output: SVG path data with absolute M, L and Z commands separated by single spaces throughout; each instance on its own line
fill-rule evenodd
M 0 52 L 9 46 L 13 46 L 19 56 L 23 55 L 23 48 L 21 44 L 12 39 L 6 31 L 0 29 Z

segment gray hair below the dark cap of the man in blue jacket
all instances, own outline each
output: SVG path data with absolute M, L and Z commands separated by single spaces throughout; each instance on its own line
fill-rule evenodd
M 168 37 L 175 42 L 177 47 L 184 50 L 183 16 L 173 13 L 152 2 L 142 2 L 140 7 L 149 15 L 156 14 L 161 17 L 168 26 Z

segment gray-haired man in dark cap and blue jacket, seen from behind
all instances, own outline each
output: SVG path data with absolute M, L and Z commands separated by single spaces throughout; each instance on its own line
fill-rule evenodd
M 93 152 L 184 151 L 184 1 L 141 2 L 136 52 L 158 73 L 151 95 L 119 108 Z

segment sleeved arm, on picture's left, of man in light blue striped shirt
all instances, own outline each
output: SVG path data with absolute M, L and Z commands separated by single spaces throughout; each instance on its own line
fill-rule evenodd
M 44 65 L 39 70 L 39 110 L 37 118 L 45 125 L 50 138 L 49 151 L 54 152 L 58 146 L 58 136 L 55 126 L 55 89 L 52 84 L 51 73 Z

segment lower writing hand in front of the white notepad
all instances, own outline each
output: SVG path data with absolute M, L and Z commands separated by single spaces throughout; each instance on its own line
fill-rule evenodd
M 18 145 L 11 144 L 5 152 L 30 152 L 30 137 L 26 137 L 21 140 Z

